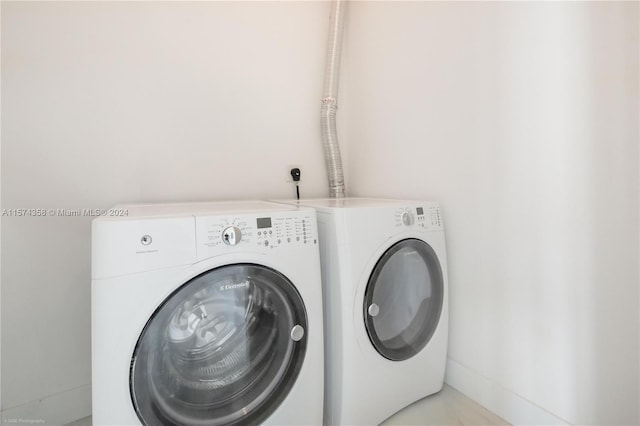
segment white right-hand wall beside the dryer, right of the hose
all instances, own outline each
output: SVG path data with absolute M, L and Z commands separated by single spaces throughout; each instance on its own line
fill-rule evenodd
M 447 381 L 514 423 L 640 422 L 638 28 L 637 2 L 351 4 L 350 194 L 443 204 Z

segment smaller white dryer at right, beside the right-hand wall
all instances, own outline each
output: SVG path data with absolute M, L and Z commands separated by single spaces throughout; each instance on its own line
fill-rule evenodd
M 364 198 L 298 204 L 318 214 L 325 424 L 379 424 L 443 386 L 448 289 L 440 207 Z

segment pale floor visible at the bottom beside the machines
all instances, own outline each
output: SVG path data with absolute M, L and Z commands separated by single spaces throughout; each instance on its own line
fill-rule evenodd
M 381 426 L 508 425 L 478 403 L 445 385 L 442 391 L 411 404 L 388 418 Z M 91 426 L 91 417 L 66 426 Z

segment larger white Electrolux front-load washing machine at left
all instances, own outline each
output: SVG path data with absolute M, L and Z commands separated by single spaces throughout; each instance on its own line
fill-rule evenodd
M 93 424 L 320 424 L 314 210 L 112 211 L 92 228 Z

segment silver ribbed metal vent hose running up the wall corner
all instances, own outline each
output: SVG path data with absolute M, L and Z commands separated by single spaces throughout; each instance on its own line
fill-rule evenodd
M 345 3 L 346 0 L 336 0 L 332 3 L 331 16 L 329 18 L 329 41 L 327 43 L 322 109 L 320 112 L 320 133 L 327 164 L 329 196 L 331 198 L 343 198 L 345 196 L 342 158 L 340 157 L 338 131 L 336 128 Z

